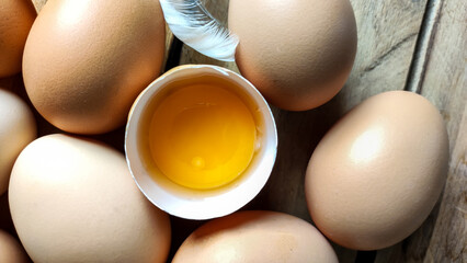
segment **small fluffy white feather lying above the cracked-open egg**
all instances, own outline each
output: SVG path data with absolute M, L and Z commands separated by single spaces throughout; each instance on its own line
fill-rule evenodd
M 208 57 L 234 61 L 238 37 L 223 26 L 200 0 L 159 0 L 172 33 Z

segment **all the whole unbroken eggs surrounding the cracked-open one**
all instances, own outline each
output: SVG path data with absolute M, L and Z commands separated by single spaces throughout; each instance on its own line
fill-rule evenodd
M 29 104 L 0 87 L 0 195 L 8 191 L 20 240 L 0 230 L 0 262 L 167 261 L 169 216 L 140 193 L 122 152 L 87 137 L 124 125 L 159 76 L 164 26 L 156 0 L 49 0 L 37 18 L 30 0 L 1 1 L 0 78 L 22 69 L 34 110 L 68 134 L 36 139 Z M 229 26 L 241 73 L 284 110 L 328 102 L 350 75 L 348 0 L 231 0 Z M 429 216 L 447 159 L 443 118 L 428 100 L 377 94 L 311 156 L 304 187 L 316 227 L 238 211 L 195 230 L 173 262 L 337 262 L 328 239 L 355 250 L 392 245 Z

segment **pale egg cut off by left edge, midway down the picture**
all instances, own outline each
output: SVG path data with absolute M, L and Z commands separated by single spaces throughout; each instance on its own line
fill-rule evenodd
M 7 192 L 11 169 L 21 150 L 36 138 L 36 122 L 25 102 L 0 89 L 0 195 Z

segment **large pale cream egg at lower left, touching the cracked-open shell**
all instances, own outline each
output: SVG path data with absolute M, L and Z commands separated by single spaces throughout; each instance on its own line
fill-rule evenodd
M 134 183 L 125 157 L 54 134 L 14 163 L 11 216 L 34 262 L 164 262 L 170 221 Z

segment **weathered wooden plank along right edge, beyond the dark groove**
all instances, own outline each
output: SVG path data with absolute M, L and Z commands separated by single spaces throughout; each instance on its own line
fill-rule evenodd
M 421 94 L 444 116 L 451 161 L 425 262 L 467 262 L 466 1 L 442 1 L 428 46 Z

